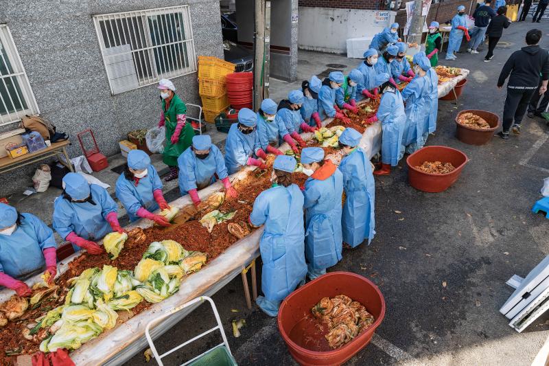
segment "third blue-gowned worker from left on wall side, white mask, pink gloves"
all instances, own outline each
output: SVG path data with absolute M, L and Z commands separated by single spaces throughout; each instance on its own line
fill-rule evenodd
M 168 209 L 170 206 L 162 194 L 159 173 L 146 152 L 131 150 L 128 153 L 128 164 L 116 182 L 115 192 L 131 222 L 146 218 L 163 227 L 170 226 L 164 216 L 152 214 L 159 208 Z

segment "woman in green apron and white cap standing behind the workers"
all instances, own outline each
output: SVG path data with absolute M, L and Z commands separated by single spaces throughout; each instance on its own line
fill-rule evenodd
M 162 112 L 159 127 L 166 127 L 166 146 L 163 152 L 163 161 L 170 167 L 170 173 L 165 181 L 172 181 L 178 176 L 177 158 L 191 146 L 194 130 L 190 123 L 186 123 L 187 106 L 176 93 L 174 83 L 167 79 L 159 82 L 162 98 Z

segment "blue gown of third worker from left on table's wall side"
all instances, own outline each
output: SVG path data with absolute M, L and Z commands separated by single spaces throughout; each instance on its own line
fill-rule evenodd
M 137 210 L 143 207 L 149 212 L 159 209 L 158 203 L 154 201 L 152 192 L 162 190 L 162 182 L 159 173 L 154 166 L 149 165 L 148 174 L 143 179 L 139 179 L 139 184 L 135 186 L 133 179 L 128 181 L 124 174 L 121 174 L 116 181 L 116 196 L 126 207 L 130 221 L 139 220 Z

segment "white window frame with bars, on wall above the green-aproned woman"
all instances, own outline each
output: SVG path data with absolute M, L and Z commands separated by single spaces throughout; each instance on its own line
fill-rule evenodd
M 177 13 L 181 15 L 169 16 Z M 157 16 L 155 20 L 150 19 L 154 16 Z M 175 19 L 176 16 L 177 21 L 182 20 L 183 23 L 172 24 L 171 19 Z M 155 40 L 151 36 L 150 21 L 162 27 L 162 36 L 155 33 L 155 36 L 159 37 L 157 45 L 154 45 Z M 163 78 L 176 78 L 197 71 L 189 5 L 97 14 L 93 16 L 93 23 L 112 95 L 156 84 Z M 169 29 L 178 29 L 177 25 L 183 25 L 183 32 L 169 31 Z M 109 30 L 110 34 L 113 34 L 113 39 L 110 39 Z M 180 40 L 176 39 L 179 37 Z M 110 46 L 112 44 L 114 46 Z M 134 44 L 136 49 L 133 49 Z M 130 58 L 133 69 L 128 67 Z M 183 58 L 186 58 L 186 61 Z M 167 70 L 166 67 L 172 70 Z M 118 72 L 121 72 L 122 76 L 118 76 Z M 116 80 L 117 78 L 121 80 Z

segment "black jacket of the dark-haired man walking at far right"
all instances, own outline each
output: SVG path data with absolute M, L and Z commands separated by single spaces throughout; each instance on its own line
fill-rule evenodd
M 537 89 L 541 80 L 549 79 L 549 53 L 538 45 L 526 46 L 513 52 L 503 65 L 498 87 L 502 87 L 509 76 L 509 89 Z

